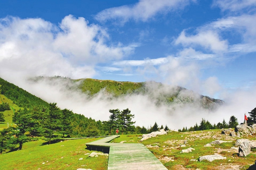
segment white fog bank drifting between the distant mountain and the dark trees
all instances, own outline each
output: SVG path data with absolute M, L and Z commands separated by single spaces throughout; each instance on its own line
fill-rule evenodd
M 7 81 L 10 80 L 7 78 Z M 149 127 L 157 122 L 159 126 L 167 125 L 176 130 L 183 126 L 189 128 L 194 126 L 196 122 L 199 124 L 202 118 L 209 120 L 212 124 L 217 124 L 223 119 L 228 122 L 230 116 L 234 115 L 240 123 L 243 121 L 244 113 L 252 110 L 256 102 L 255 91 L 237 91 L 233 94 L 226 94 L 223 98 L 225 104 L 209 110 L 201 107 L 200 95 L 192 93 L 191 90 L 183 90 L 179 95 L 191 96 L 193 94 L 194 101 L 198 102 L 173 102 L 172 104 L 156 105 L 157 101 L 152 96 L 157 96 L 160 93 L 171 94 L 176 91 L 170 91 L 175 88 L 171 88 L 169 85 L 163 85 L 162 88 L 159 88 L 150 82 L 146 84 L 149 89 L 147 94 L 128 94 L 118 98 L 106 95 L 104 90 L 90 97 L 79 89 L 73 89 L 76 85 L 71 83 L 69 79 L 42 78 L 37 82 L 29 79 L 15 79 L 10 82 L 47 102 L 57 102 L 61 109 L 67 108 L 73 110 L 74 113 L 83 114 L 96 120 L 108 120 L 109 109 L 119 108 L 123 110 L 129 108 L 131 113 L 135 114 L 135 125 Z

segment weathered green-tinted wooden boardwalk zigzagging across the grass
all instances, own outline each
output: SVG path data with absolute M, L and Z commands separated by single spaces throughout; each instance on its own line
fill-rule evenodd
M 108 170 L 167 170 L 141 143 L 107 143 L 117 137 L 119 135 L 86 143 L 86 146 L 110 147 Z

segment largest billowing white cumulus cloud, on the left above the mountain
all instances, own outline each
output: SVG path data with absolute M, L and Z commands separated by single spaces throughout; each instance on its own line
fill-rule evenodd
M 2 18 L 0 76 L 92 77 L 95 64 L 122 59 L 137 47 L 109 44 L 109 39 L 105 29 L 72 15 L 59 26 L 41 18 Z

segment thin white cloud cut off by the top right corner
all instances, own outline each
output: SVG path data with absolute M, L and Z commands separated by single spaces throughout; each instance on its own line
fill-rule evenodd
M 256 7 L 255 0 L 215 0 L 213 6 L 218 6 L 222 11 L 239 12 L 245 10 L 248 12 Z

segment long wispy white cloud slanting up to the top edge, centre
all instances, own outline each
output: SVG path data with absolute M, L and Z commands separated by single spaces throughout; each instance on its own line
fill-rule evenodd
M 192 0 L 194 1 L 194 0 Z M 95 16 L 95 19 L 103 22 L 111 19 L 118 19 L 121 23 L 127 22 L 129 19 L 143 22 L 154 17 L 156 14 L 168 13 L 176 11 L 188 5 L 190 0 L 140 0 L 135 5 L 120 6 L 105 9 Z

